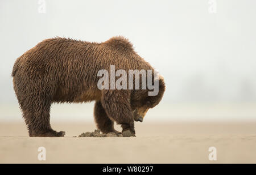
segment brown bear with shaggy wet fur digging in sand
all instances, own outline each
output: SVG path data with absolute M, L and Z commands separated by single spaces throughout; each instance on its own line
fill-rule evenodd
M 29 135 L 64 136 L 64 131 L 51 128 L 51 104 L 93 100 L 96 101 L 94 119 L 102 133 L 118 133 L 114 129 L 116 122 L 122 131 L 129 130 L 135 135 L 134 121 L 142 121 L 147 110 L 160 102 L 165 91 L 164 80 L 158 77 L 159 91 L 154 96 L 148 95 L 149 88 L 100 89 L 98 71 L 110 71 L 110 65 L 127 72 L 155 72 L 122 36 L 100 43 L 55 37 L 43 40 L 16 59 L 12 72 L 14 91 Z

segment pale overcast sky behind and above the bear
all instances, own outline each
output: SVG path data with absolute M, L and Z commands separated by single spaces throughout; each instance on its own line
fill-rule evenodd
M 38 42 L 118 35 L 163 75 L 163 104 L 256 100 L 254 0 L 38 2 L 0 1 L 0 104 L 17 104 L 14 61 Z

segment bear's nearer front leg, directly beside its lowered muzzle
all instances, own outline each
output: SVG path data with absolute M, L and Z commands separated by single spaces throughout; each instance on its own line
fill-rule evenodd
M 103 90 L 101 104 L 108 116 L 121 125 L 124 136 L 135 136 L 129 91 L 123 89 Z M 129 132 L 131 133 L 130 135 L 127 134 Z

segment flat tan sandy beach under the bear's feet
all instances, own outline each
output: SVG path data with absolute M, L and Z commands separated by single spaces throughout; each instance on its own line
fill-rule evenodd
M 0 163 L 256 163 L 256 122 L 137 123 L 132 138 L 73 137 L 93 131 L 94 123 L 52 127 L 65 137 L 30 138 L 24 123 L 0 123 Z M 38 160 L 39 147 L 46 148 L 45 161 Z

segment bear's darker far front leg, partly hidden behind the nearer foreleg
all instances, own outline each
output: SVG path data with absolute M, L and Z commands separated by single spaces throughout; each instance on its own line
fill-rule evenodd
M 120 133 L 114 129 L 114 122 L 108 117 L 100 101 L 94 104 L 94 120 L 102 133 Z

